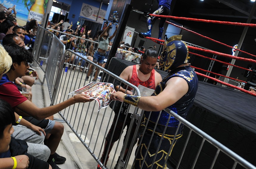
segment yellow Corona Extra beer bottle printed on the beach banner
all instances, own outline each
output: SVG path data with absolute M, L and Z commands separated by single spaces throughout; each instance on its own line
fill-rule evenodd
M 27 22 L 31 20 L 37 20 L 38 25 L 42 25 L 44 8 L 43 8 L 44 0 L 35 0 L 35 3 L 29 9 L 29 15 Z

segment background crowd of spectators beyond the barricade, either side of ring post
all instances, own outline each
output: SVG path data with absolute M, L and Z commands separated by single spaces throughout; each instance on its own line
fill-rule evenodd
M 82 25 L 76 25 L 76 28 L 74 28 L 73 23 L 70 23 L 68 19 L 65 20 L 65 22 L 63 20 L 60 20 L 60 22 L 56 23 L 49 22 L 49 25 L 47 27 L 50 28 L 50 31 L 54 33 L 65 45 L 65 49 L 70 49 L 81 55 L 82 57 L 86 57 L 87 59 L 98 63 L 102 67 L 105 66 L 108 58 L 108 53 L 113 43 L 112 38 L 114 38 L 115 36 L 114 33 L 114 36 L 107 37 L 109 32 L 108 28 L 112 28 L 112 23 L 110 23 L 106 27 L 107 30 L 94 30 L 97 32 L 93 32 L 93 30 L 88 29 L 86 27 L 86 22 Z M 117 28 L 118 27 L 116 27 L 116 29 Z M 95 37 L 92 36 L 94 34 Z M 105 36 L 108 38 L 109 43 L 107 43 L 107 39 L 104 40 L 104 46 L 107 46 L 107 44 L 108 46 L 104 47 L 104 49 L 102 50 L 102 47 L 99 47 L 97 42 L 100 42 L 102 40 L 102 37 Z M 154 48 L 156 48 L 156 46 L 154 46 Z M 121 41 L 119 43 L 115 57 L 139 64 L 141 62 L 141 54 L 143 54 L 144 51 L 144 46 L 133 48 L 130 44 L 125 44 L 123 41 Z M 95 54 L 97 54 L 98 56 L 99 53 L 101 54 L 100 58 L 102 58 L 100 60 L 98 57 L 95 56 Z M 77 67 L 79 67 L 79 70 L 81 72 L 89 70 L 88 75 L 90 75 L 93 70 L 93 66 L 88 67 L 88 62 L 85 62 L 84 59 L 75 56 L 74 54 L 71 54 L 71 52 L 67 52 L 65 62 L 72 64 L 73 67 L 70 65 L 69 68 L 72 67 L 73 70 L 76 70 Z M 97 74 L 98 72 L 96 68 L 96 75 L 94 75 L 93 81 L 97 80 Z M 87 77 L 87 79 L 89 79 L 89 77 Z

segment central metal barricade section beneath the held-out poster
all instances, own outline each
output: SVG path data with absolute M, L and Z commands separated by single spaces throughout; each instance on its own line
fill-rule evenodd
M 108 83 L 114 83 L 115 79 L 119 80 L 120 83 L 124 83 L 127 85 L 126 89 L 128 87 L 131 87 L 134 89 L 134 91 L 137 92 L 138 95 L 140 95 L 140 91 L 138 88 L 131 83 L 128 83 L 127 81 L 124 81 L 123 79 L 119 78 L 117 75 L 111 73 L 110 71 L 100 67 L 99 65 L 96 65 L 95 63 L 88 60 L 86 57 L 82 57 L 71 50 L 66 50 L 64 56 L 68 55 L 68 53 L 71 53 L 72 55 L 81 58 L 88 63 L 88 67 L 90 65 L 94 66 L 94 69 L 97 67 L 101 71 L 107 74 L 106 78 L 103 80 L 98 81 L 104 81 Z M 65 60 L 67 61 L 67 60 Z M 71 67 L 81 67 L 81 65 L 74 65 L 69 62 L 65 62 L 66 65 L 70 65 Z M 64 100 L 70 98 L 71 96 L 68 95 L 68 93 L 75 91 L 78 88 L 81 88 L 82 86 L 85 86 L 86 84 L 90 83 L 92 80 L 92 76 L 88 76 L 89 81 L 86 81 L 86 76 L 88 75 L 88 71 L 84 73 L 84 71 L 80 72 L 77 69 L 72 68 L 63 68 L 61 72 L 61 80 L 59 82 L 58 90 L 56 98 L 54 99 L 54 104 L 58 104 L 60 102 L 63 102 Z M 122 104 L 120 105 L 120 109 L 122 108 Z M 113 107 L 117 105 L 117 102 L 113 102 Z M 120 112 L 120 109 L 117 109 L 115 113 Z M 129 110 L 129 108 L 128 108 Z M 134 112 L 136 113 L 138 111 L 138 108 L 135 108 Z M 103 166 L 103 163 L 100 162 L 101 155 L 103 151 L 110 152 L 111 149 L 105 149 L 104 150 L 104 143 L 105 143 L 105 137 L 107 136 L 108 131 L 110 130 L 111 123 L 114 119 L 114 116 L 118 118 L 118 115 L 115 115 L 114 111 L 108 106 L 107 108 L 98 110 L 98 103 L 96 101 L 89 102 L 89 103 L 78 103 L 74 104 L 62 111 L 59 112 L 60 116 L 65 120 L 65 122 L 68 124 L 68 126 L 71 128 L 71 130 L 75 133 L 75 135 L 79 138 L 79 140 L 82 142 L 82 144 L 86 147 L 88 152 L 93 156 L 93 158 L 102 166 L 102 168 L 106 168 Z M 127 118 L 131 113 L 126 114 L 126 118 L 124 121 L 127 120 Z M 132 126 L 135 122 L 135 118 L 138 119 L 139 115 L 134 115 L 133 118 L 131 118 L 130 127 L 127 128 L 128 134 L 127 139 L 129 139 L 130 131 L 132 130 Z M 103 123 L 105 122 L 105 123 Z M 117 125 L 116 123 L 113 123 L 113 125 Z M 120 127 L 120 126 L 119 126 Z M 125 125 L 121 126 L 121 130 L 124 130 Z M 114 128 L 115 130 L 116 128 Z M 111 141 L 113 138 L 114 133 L 111 136 Z M 118 135 L 119 141 L 117 144 L 115 144 L 112 148 L 112 151 L 110 153 L 110 158 L 108 160 L 108 168 L 113 168 L 114 165 L 117 162 L 117 158 L 120 155 L 120 153 L 124 153 L 122 150 L 122 143 L 124 135 L 122 135 L 122 132 L 120 135 Z M 125 148 L 123 148 L 125 149 Z M 104 161 L 107 161 L 104 159 Z

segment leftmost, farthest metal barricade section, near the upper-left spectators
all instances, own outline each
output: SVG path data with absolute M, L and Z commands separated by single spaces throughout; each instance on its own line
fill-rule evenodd
M 34 60 L 38 63 L 44 72 L 46 71 L 53 37 L 53 33 L 49 32 L 41 26 L 38 27 L 32 55 L 34 56 Z

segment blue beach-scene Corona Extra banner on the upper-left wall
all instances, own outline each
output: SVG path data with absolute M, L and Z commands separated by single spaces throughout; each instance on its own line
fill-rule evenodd
M 37 20 L 41 25 L 47 3 L 48 0 L 0 0 L 0 11 L 15 7 L 18 25 L 24 26 L 31 19 Z

